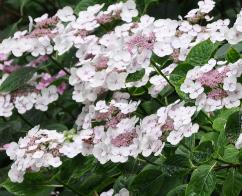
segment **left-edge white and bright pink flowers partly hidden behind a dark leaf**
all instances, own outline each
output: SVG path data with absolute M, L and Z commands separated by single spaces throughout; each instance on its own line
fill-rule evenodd
M 26 67 L 36 67 L 47 61 L 47 56 L 40 56 L 26 65 Z M 9 77 L 11 72 L 21 69 L 20 65 L 15 65 L 7 55 L 0 54 L 1 70 L 3 72 L 0 85 Z M 35 74 L 32 79 L 23 87 L 12 92 L 0 93 L 0 116 L 9 117 L 16 108 L 18 113 L 23 114 L 32 108 L 47 111 L 48 105 L 58 99 L 58 94 L 62 94 L 67 84 L 62 82 L 59 86 L 52 83 L 65 76 L 64 71 L 60 71 L 56 76 L 48 73 Z

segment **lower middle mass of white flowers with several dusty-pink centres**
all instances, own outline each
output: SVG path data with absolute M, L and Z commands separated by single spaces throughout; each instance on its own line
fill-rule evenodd
M 126 162 L 129 156 L 139 154 L 158 156 L 165 141 L 176 145 L 198 131 L 198 124 L 191 122 L 196 107 L 175 103 L 140 120 L 132 114 L 139 103 L 128 102 L 126 96 L 116 94 L 109 105 L 99 101 L 85 107 L 76 121 L 79 133 L 61 153 L 69 158 L 93 154 L 102 164 L 109 160 Z

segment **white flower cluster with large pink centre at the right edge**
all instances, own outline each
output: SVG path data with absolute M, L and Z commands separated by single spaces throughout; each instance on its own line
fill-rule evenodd
M 196 100 L 198 109 L 206 112 L 237 107 L 242 99 L 242 85 L 237 82 L 241 74 L 241 60 L 226 63 L 210 59 L 207 64 L 187 72 L 181 90 Z

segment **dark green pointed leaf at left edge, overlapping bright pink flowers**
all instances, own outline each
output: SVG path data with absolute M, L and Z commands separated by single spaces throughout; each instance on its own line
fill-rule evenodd
M 0 86 L 1 92 L 11 92 L 24 86 L 36 72 L 35 68 L 23 67 L 11 73 Z

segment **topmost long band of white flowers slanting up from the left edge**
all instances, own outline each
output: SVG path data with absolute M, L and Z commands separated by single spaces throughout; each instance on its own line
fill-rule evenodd
M 86 35 L 93 32 L 101 24 L 121 19 L 131 22 L 138 15 L 134 1 L 117 3 L 101 11 L 104 4 L 88 7 L 86 11 L 74 15 L 71 7 L 58 10 L 55 16 L 44 14 L 34 20 L 30 17 L 29 31 L 16 32 L 11 39 L 1 44 L 1 51 L 8 54 L 12 52 L 16 57 L 28 52 L 33 56 L 51 54 L 58 51 L 61 55 L 69 50 L 73 44 L 81 45 L 88 41 Z M 68 23 L 67 25 L 65 25 Z M 54 45 L 52 45 L 54 42 Z

